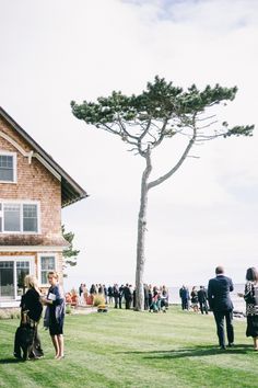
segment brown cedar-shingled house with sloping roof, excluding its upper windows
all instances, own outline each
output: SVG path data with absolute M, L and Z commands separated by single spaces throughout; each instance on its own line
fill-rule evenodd
M 61 233 L 61 207 L 86 193 L 2 109 L 1 152 L 15 152 L 16 182 L 0 182 L 0 203 L 35 202 L 38 208 L 37 232 L 0 231 L 0 307 L 4 307 L 17 304 L 21 297 L 15 284 L 21 277 L 21 263 L 30 263 L 30 272 L 39 277 L 39 285 L 40 262 L 46 258 L 55 256 L 56 270 L 62 273 L 62 250 L 68 243 Z

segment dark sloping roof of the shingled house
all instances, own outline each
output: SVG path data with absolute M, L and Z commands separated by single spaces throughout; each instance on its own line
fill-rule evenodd
M 4 118 L 37 152 L 39 161 L 61 180 L 61 204 L 68 206 L 87 197 L 87 193 L 48 155 L 1 106 L 0 117 Z

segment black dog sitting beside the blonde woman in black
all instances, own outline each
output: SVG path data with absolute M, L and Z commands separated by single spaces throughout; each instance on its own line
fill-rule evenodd
M 35 328 L 28 323 L 21 324 L 15 332 L 14 339 L 14 357 L 26 361 L 33 350 L 33 342 L 35 339 Z M 23 351 L 23 356 L 22 352 Z

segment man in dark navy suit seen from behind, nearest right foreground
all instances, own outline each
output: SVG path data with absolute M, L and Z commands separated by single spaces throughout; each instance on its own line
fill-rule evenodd
M 233 328 L 233 303 L 230 293 L 234 286 L 232 279 L 224 275 L 223 266 L 215 269 L 216 276 L 209 281 L 208 299 L 216 323 L 216 333 L 219 338 L 220 349 L 225 350 L 224 319 L 226 321 L 226 334 L 228 346 L 234 344 Z

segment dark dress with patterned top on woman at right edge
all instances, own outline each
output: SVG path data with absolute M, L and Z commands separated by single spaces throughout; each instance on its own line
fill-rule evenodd
M 247 328 L 246 336 L 258 336 L 258 284 L 254 282 L 247 282 L 245 285 L 246 301 L 246 318 Z

